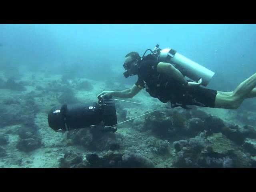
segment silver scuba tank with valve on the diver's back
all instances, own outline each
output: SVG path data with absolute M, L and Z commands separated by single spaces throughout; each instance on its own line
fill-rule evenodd
M 144 55 L 146 52 L 150 50 L 147 49 L 144 52 Z M 180 70 L 180 72 L 184 75 L 190 78 L 191 80 L 198 81 L 200 78 L 202 78 L 202 85 L 207 86 L 214 76 L 214 72 L 211 70 L 205 68 L 204 66 L 186 58 L 182 54 L 179 54 L 174 49 L 165 48 L 161 50 L 159 48 L 159 45 L 157 44 L 154 48 L 154 50 L 150 50 L 151 54 L 147 56 L 142 56 L 142 59 L 145 59 L 147 57 L 154 58 L 155 60 L 159 62 L 167 62 L 174 65 L 175 68 Z

